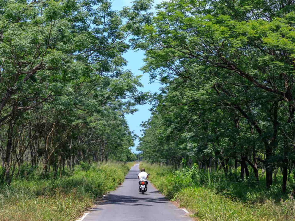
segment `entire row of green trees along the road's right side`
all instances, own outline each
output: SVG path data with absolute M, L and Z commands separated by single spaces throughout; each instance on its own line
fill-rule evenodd
M 138 150 L 151 162 L 241 165 L 241 178 L 295 163 L 294 1 L 171 0 L 134 40 L 155 95 Z M 215 166 L 217 168 L 217 166 Z M 244 172 L 245 171 L 245 172 Z

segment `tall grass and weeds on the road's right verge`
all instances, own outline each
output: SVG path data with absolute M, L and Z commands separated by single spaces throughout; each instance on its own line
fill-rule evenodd
M 142 163 L 149 180 L 168 199 L 187 208 L 198 220 L 295 220 L 295 200 L 291 190 L 281 194 L 281 176 L 265 190 L 265 177 L 257 182 L 252 175 L 244 181 L 237 173 L 227 178 L 222 171 L 204 173 L 197 166 L 175 171 L 173 167 Z

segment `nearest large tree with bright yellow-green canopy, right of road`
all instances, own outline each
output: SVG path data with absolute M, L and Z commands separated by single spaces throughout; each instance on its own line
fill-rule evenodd
M 190 102 L 213 99 L 223 114 L 234 114 L 231 120 L 246 121 L 247 148 L 242 149 L 246 155 L 252 149 L 255 169 L 257 160 L 265 165 L 267 188 L 275 163 L 282 166 L 282 192 L 293 157 L 287 156 L 294 140 L 293 8 L 289 1 L 163 2 L 134 40 L 135 47 L 146 51 L 143 70 L 151 79 L 180 85 Z M 210 116 L 202 124 L 208 121 Z M 240 127 L 235 126 L 239 136 Z M 253 136 L 259 142 L 252 142 Z M 214 143 L 220 149 L 218 140 Z M 256 154 L 261 145 L 265 158 Z M 244 168 L 250 162 L 245 155 L 240 161 Z

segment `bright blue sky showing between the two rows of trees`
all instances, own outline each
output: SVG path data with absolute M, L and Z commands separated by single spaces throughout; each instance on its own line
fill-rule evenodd
M 112 1 L 112 9 L 113 10 L 121 10 L 123 6 L 132 6 L 133 0 L 114 0 Z M 159 4 L 161 0 L 154 0 L 155 4 Z M 134 73 L 135 75 L 143 75 L 141 77 L 141 83 L 144 85 L 143 88 L 139 88 L 141 91 L 151 91 L 157 92 L 159 91 L 159 87 L 161 85 L 159 83 L 149 83 L 149 75 L 143 74 L 139 69 L 144 65 L 143 59 L 144 59 L 144 52 L 143 51 L 128 51 L 124 54 L 124 58 L 128 60 L 128 65 L 126 69 L 129 69 Z M 135 134 L 141 135 L 141 127 L 140 123 L 143 121 L 147 121 L 148 118 L 151 117 L 151 113 L 149 109 L 151 108 L 151 105 L 145 104 L 145 105 L 137 105 L 136 108 L 138 111 L 135 114 L 127 115 L 126 119 L 129 124 L 129 128 L 131 131 L 134 131 Z M 138 140 L 135 142 L 135 146 L 132 147 L 132 152 L 136 152 L 136 146 L 138 145 Z

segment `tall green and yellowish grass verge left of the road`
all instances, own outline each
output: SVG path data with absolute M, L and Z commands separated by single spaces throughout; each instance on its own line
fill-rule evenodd
M 35 176 L 0 186 L 0 221 L 75 220 L 124 181 L 134 163 L 82 164 L 62 178 Z

